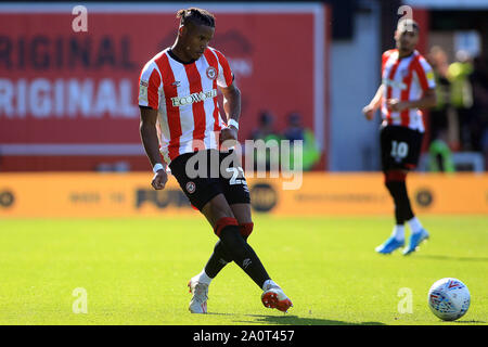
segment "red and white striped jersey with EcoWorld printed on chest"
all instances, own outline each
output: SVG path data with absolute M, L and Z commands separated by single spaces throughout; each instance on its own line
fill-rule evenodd
M 233 74 L 214 48 L 191 63 L 180 62 L 168 49 L 143 67 L 139 105 L 158 111 L 160 153 L 167 164 L 183 153 L 218 149 L 226 127 L 217 102 L 217 87 L 229 87 Z

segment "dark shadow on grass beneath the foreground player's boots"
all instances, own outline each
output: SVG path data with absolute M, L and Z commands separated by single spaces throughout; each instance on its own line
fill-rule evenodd
M 216 316 L 237 316 L 235 313 L 217 313 L 217 312 L 208 312 L 207 314 L 216 314 Z M 240 314 L 239 314 L 240 316 Z M 306 318 L 298 317 L 292 314 L 283 314 L 283 316 L 266 316 L 266 314 L 243 314 L 244 317 L 249 317 L 249 320 L 235 320 L 235 323 L 265 323 L 265 324 L 277 324 L 277 325 L 385 325 L 380 322 L 361 322 L 361 323 L 351 323 L 351 322 L 343 322 L 343 321 L 334 321 L 329 319 L 320 319 L 320 318 Z

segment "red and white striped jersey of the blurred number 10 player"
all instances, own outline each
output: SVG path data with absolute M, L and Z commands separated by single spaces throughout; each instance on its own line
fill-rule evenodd
M 425 59 L 415 50 L 411 55 L 399 59 L 398 50 L 389 50 L 382 55 L 382 118 L 388 125 L 399 125 L 425 131 L 422 111 L 407 108 L 391 112 L 386 107 L 387 99 L 413 101 L 422 98 L 427 89 L 435 88 L 434 73 Z

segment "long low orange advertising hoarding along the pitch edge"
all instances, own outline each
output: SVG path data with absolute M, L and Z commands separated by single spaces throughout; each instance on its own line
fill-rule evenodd
M 150 174 L 0 174 L 0 218 L 197 216 L 175 178 L 163 191 Z M 255 213 L 275 216 L 391 215 L 382 174 L 248 178 Z M 300 183 L 285 190 L 286 183 Z M 488 215 L 488 175 L 411 174 L 420 214 Z

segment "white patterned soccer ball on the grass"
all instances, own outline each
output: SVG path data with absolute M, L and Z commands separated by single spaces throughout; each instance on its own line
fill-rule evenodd
M 454 321 L 470 308 L 467 286 L 458 279 L 446 278 L 434 283 L 428 291 L 428 307 L 438 318 Z

